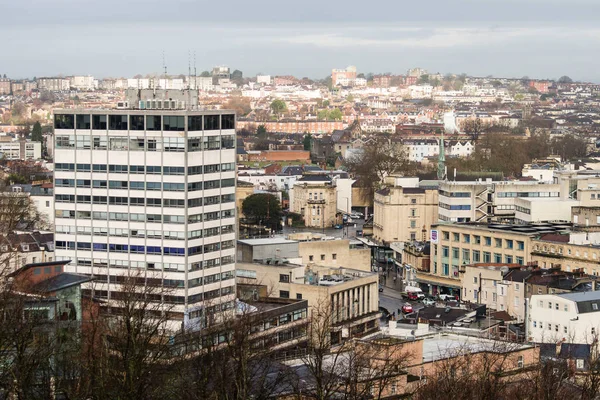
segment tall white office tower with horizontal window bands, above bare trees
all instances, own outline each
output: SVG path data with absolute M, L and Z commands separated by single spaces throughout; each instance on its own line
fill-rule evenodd
M 158 277 L 201 328 L 235 300 L 235 115 L 140 108 L 55 111 L 56 257 L 109 304 Z

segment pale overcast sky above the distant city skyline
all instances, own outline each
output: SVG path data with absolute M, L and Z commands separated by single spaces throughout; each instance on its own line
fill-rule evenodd
M 128 77 L 214 65 L 600 82 L 598 0 L 0 0 L 0 74 Z M 192 56 L 193 57 L 193 56 Z

